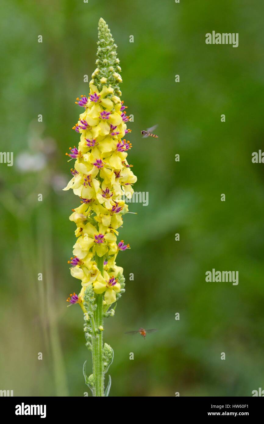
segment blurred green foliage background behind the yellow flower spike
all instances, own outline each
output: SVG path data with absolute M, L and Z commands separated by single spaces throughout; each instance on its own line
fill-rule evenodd
M 61 188 L 100 17 L 118 45 L 122 99 L 134 115 L 134 188 L 149 192 L 149 205 L 131 204 L 137 215 L 126 215 L 119 233 L 131 250 L 118 256 L 126 293 L 105 321 L 110 395 L 251 396 L 264 388 L 264 165 L 251 162 L 263 148 L 263 13 L 261 0 L 1 2 L 1 151 L 14 152 L 14 166 L 0 165 L 0 389 L 89 390 L 81 308 L 66 307 L 79 287 L 67 264 L 78 199 Z M 239 47 L 206 45 L 213 30 L 239 33 Z M 142 139 L 156 123 L 159 138 Z M 206 283 L 212 268 L 239 271 L 239 285 Z M 141 326 L 159 331 L 145 341 L 124 334 Z

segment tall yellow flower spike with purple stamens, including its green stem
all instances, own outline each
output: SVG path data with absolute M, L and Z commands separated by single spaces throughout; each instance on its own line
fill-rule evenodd
M 126 158 L 132 145 L 124 137 L 127 129 L 126 106 L 120 99 L 117 45 L 106 22 L 98 27 L 97 69 L 92 74 L 89 96 L 81 95 L 82 107 L 73 129 L 80 135 L 78 147 L 66 153 L 75 161 L 71 180 L 64 190 L 72 189 L 81 205 L 72 209 L 69 219 L 76 224 L 76 242 L 68 261 L 70 273 L 81 281 L 81 291 L 73 293 L 69 306 L 80 304 L 84 313 L 86 346 L 92 351 L 93 374 L 86 384 L 94 396 L 104 396 L 104 375 L 113 360 L 113 349 L 103 345 L 103 318 L 114 316 L 109 309 L 125 291 L 123 268 L 117 266 L 119 251 L 130 249 L 117 229 L 123 225 L 128 205 L 120 193 L 130 198 L 136 182 Z M 103 347 L 104 346 L 104 347 Z M 103 366 L 102 366 L 103 365 Z

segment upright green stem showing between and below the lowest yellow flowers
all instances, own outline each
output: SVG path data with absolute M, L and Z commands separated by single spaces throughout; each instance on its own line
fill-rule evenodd
M 96 255 L 97 268 L 103 275 L 103 257 Z M 94 311 L 95 335 L 92 338 L 92 362 L 94 376 L 94 396 L 104 396 L 104 374 L 103 374 L 103 331 L 98 330 L 103 326 L 103 295 L 96 296 L 97 308 Z

